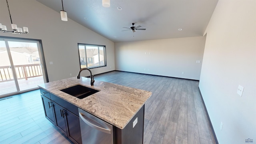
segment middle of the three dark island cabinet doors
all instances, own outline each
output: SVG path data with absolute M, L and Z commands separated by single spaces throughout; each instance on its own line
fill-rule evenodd
M 68 136 L 67 129 L 66 129 L 65 116 L 63 116 L 63 114 L 65 113 L 64 108 L 56 104 L 55 102 L 52 102 L 52 104 L 54 106 L 56 126 L 65 136 Z

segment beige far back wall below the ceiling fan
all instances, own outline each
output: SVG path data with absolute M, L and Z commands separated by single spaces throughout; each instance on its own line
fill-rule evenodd
M 116 70 L 199 80 L 204 44 L 202 36 L 116 42 Z

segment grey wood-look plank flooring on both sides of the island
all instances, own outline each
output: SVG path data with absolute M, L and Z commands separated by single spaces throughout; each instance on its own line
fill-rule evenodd
M 198 81 L 113 71 L 94 76 L 152 92 L 144 144 L 216 144 Z M 0 99 L 0 144 L 72 144 L 46 118 L 39 90 Z

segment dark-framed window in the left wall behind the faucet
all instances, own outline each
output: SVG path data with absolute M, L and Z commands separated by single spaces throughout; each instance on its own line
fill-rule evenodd
M 81 68 L 106 66 L 106 46 L 78 44 L 78 51 Z

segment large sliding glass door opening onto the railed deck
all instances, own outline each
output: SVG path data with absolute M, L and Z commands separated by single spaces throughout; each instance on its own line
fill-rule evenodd
M 0 98 L 48 81 L 39 40 L 0 37 Z

